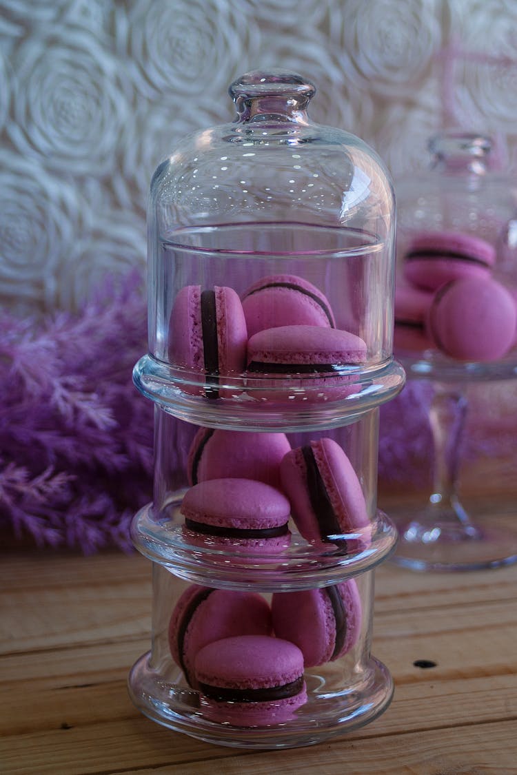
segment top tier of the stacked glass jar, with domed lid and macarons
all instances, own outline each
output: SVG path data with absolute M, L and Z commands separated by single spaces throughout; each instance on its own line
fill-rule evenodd
M 181 140 L 153 176 L 150 352 L 135 380 L 177 416 L 263 427 L 264 409 L 278 425 L 290 404 L 326 426 L 401 387 L 391 181 L 362 140 L 308 119 L 314 91 L 294 74 L 240 77 L 236 120 Z M 287 326 L 288 343 L 261 333 Z M 329 380 L 346 383 L 345 405 Z

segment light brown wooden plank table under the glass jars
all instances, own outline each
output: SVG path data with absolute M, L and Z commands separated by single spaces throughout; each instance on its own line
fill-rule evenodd
M 3 775 L 517 773 L 517 567 L 380 567 L 372 651 L 394 701 L 357 732 L 276 752 L 211 746 L 133 708 L 126 676 L 150 648 L 143 557 L 11 550 L 0 573 Z

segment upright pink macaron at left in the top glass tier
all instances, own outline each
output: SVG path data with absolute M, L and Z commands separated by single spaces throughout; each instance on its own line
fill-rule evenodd
M 171 363 L 195 373 L 187 375 L 194 384 L 185 383 L 186 392 L 219 398 L 220 377 L 243 372 L 248 335 L 243 307 L 233 288 L 181 288 L 174 301 L 169 336 Z M 196 387 L 197 381 L 203 387 Z

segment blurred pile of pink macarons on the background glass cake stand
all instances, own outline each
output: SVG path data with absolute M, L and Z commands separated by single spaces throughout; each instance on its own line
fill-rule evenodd
M 464 232 L 421 232 L 395 291 L 395 350 L 436 347 L 460 361 L 505 357 L 517 341 L 515 294 L 493 276 L 495 248 Z

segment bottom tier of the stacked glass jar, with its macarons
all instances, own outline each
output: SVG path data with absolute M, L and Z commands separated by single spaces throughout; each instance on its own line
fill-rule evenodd
M 130 694 L 154 721 L 219 745 L 287 748 L 348 732 L 384 711 L 393 691 L 388 670 L 371 656 L 373 598 L 372 571 L 325 587 L 267 591 L 260 584 L 195 584 L 153 563 L 152 647 L 131 671 Z M 341 631 L 333 614 L 330 622 L 324 618 L 336 599 L 344 613 Z M 260 660 L 264 646 L 272 642 L 281 654 L 286 641 L 306 666 L 291 697 L 218 697 L 200 680 L 207 653 L 222 660 L 226 649 L 236 645 L 247 654 L 251 645 Z

